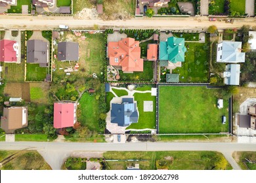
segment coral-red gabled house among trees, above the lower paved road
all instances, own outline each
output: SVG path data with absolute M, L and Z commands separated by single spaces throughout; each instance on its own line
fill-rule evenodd
M 76 107 L 75 103 L 54 103 L 53 127 L 73 127 L 76 122 Z

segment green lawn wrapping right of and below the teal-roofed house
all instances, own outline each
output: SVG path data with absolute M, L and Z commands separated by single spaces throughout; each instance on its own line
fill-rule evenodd
M 173 70 L 173 74 L 180 74 L 180 82 L 207 82 L 207 43 L 186 42 L 185 45 L 185 61 L 182 67 Z

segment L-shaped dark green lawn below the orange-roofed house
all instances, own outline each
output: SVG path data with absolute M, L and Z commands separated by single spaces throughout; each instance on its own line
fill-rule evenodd
M 153 79 L 154 74 L 154 61 L 144 61 L 144 71 L 143 72 L 133 72 L 131 73 L 123 73 L 123 71 L 119 71 L 119 75 L 121 77 L 120 80 L 123 81 L 150 81 Z

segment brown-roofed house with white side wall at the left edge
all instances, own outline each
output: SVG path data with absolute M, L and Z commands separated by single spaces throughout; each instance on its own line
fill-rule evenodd
M 28 126 L 27 107 L 5 107 L 1 116 L 1 128 L 5 133 L 14 133 L 16 129 Z

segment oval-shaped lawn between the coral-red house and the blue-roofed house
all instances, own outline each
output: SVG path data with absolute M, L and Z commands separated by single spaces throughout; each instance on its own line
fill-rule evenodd
M 90 130 L 101 131 L 98 126 L 99 119 L 99 101 L 95 99 L 95 95 L 83 93 L 79 100 L 79 108 L 81 114 L 78 121 L 83 125 L 87 125 Z

